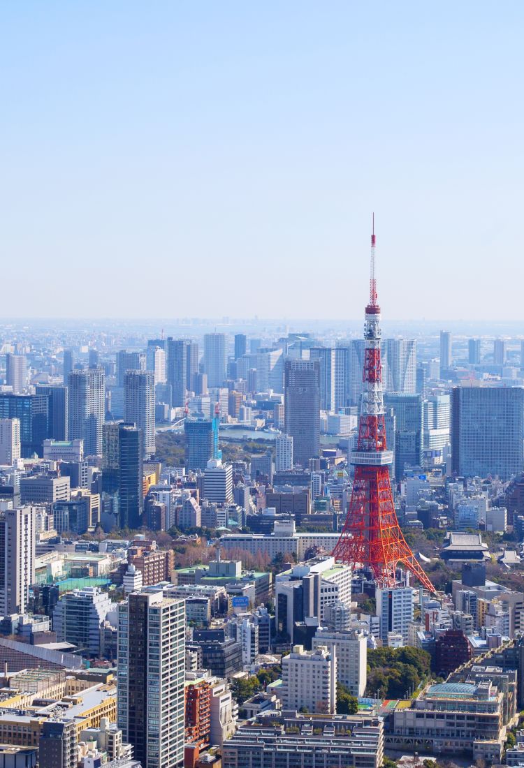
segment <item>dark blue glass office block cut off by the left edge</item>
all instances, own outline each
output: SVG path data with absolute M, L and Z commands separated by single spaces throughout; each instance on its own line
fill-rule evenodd
M 0 392 L 0 419 L 20 419 L 22 458 L 42 456 L 48 437 L 48 398 Z

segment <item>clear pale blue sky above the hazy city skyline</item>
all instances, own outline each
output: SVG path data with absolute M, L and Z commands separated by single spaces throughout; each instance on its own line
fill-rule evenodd
M 524 319 L 522 2 L 0 5 L 0 316 Z

